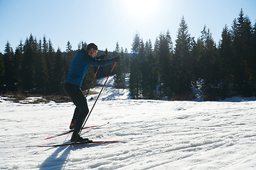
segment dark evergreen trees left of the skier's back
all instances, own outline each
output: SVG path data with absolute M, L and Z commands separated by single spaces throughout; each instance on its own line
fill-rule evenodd
M 46 36 L 38 41 L 31 34 L 15 52 L 7 42 L 4 55 L 0 53 L 0 92 L 60 94 L 67 72 L 68 58 L 63 52 L 59 48 L 55 52 Z

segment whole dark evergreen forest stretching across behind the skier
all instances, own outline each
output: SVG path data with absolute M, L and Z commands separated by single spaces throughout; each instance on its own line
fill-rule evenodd
M 97 43 L 97 42 L 96 42 Z M 132 48 L 119 47 L 105 53 L 105 58 L 121 56 L 114 67 L 118 89 L 129 88 L 132 98 L 188 100 L 192 87 L 206 101 L 231 96 L 256 95 L 256 22 L 240 11 L 231 28 L 223 27 L 221 39 L 215 42 L 210 29 L 203 27 L 201 36 L 189 34 L 185 18 L 181 18 L 173 42 L 169 30 L 160 33 L 152 44 L 135 33 Z M 81 41 L 76 50 L 67 42 L 65 52 L 53 49 L 50 39 L 37 40 L 31 34 L 20 41 L 15 51 L 7 41 L 4 54 L 0 52 L 0 94 L 60 94 L 70 64 L 78 50 L 86 48 Z M 110 74 L 112 64 L 100 67 L 97 79 Z M 97 67 L 90 66 L 82 89 L 90 88 Z M 128 73 L 128 74 L 127 74 Z M 125 78 L 129 77 L 129 86 Z M 96 86 L 96 82 L 92 87 Z

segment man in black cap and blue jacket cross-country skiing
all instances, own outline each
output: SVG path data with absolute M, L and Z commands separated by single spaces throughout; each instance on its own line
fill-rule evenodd
M 68 96 L 72 99 L 75 104 L 75 112 L 73 115 L 73 119 L 70 123 L 70 128 L 74 128 L 73 135 L 71 137 L 71 142 L 87 142 L 88 139 L 83 139 L 80 137 L 79 132 L 80 128 L 82 128 L 82 124 L 85 121 L 87 113 L 89 113 L 89 109 L 87 106 L 87 101 L 82 94 L 82 90 L 80 86 L 82 85 L 82 80 L 85 77 L 86 72 L 89 69 L 89 66 L 105 66 L 107 64 L 111 64 L 112 62 L 118 62 L 120 57 L 114 57 L 112 59 L 107 60 L 96 60 L 94 57 L 97 55 L 97 45 L 94 43 L 90 43 L 87 45 L 86 50 L 80 50 L 70 66 L 70 71 L 68 72 L 68 76 L 65 79 L 64 91 Z

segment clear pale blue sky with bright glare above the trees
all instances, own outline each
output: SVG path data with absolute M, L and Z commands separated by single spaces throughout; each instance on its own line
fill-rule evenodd
M 68 41 L 77 50 L 83 41 L 108 51 L 118 42 L 131 52 L 136 33 L 154 45 L 167 30 L 175 45 L 182 16 L 191 37 L 197 40 L 206 26 L 218 44 L 225 24 L 231 28 L 241 8 L 255 25 L 255 6 L 255 0 L 0 0 L 0 52 L 7 41 L 15 51 L 31 34 L 37 40 L 45 35 L 55 51 L 65 51 Z

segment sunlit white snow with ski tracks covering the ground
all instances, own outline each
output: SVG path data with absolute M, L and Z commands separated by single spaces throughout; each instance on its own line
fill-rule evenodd
M 36 147 L 70 140 L 44 138 L 68 130 L 73 103 L 0 97 L 0 169 L 256 169 L 256 98 L 132 100 L 128 89 L 113 89 L 112 78 L 86 126 L 110 123 L 83 130 L 82 137 L 125 142 Z M 88 96 L 89 108 L 94 102 Z

